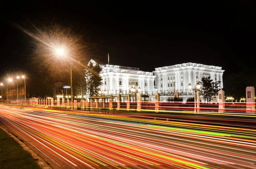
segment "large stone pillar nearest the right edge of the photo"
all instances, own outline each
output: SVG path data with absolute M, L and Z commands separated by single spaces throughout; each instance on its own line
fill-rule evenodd
M 246 87 L 246 113 L 255 114 L 255 89 L 253 86 Z

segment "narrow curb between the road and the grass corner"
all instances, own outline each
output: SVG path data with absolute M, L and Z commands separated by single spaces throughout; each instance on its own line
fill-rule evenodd
M 17 141 L 20 146 L 26 151 L 29 152 L 29 154 L 32 156 L 33 159 L 37 159 L 36 162 L 42 169 L 52 169 L 41 157 L 39 157 L 35 152 L 32 151 L 32 149 L 29 149 L 26 144 L 22 143 L 17 137 L 12 135 L 12 133 L 8 132 L 6 129 L 4 129 L 2 126 L 0 126 L 0 129 L 2 129 L 4 132 L 6 132 L 10 137 L 14 138 L 15 141 Z

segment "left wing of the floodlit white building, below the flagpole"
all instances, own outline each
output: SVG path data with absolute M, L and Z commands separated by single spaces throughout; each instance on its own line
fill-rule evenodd
M 90 62 L 96 63 L 94 60 Z M 139 68 L 117 66 L 117 65 L 104 65 L 102 66 L 103 85 L 100 86 L 102 91 L 105 91 L 107 95 L 112 94 L 116 96 L 121 94 L 121 100 L 126 101 L 126 94 L 131 93 L 131 87 L 141 89 L 141 92 L 146 95 L 154 95 L 154 78 L 153 72 L 143 72 Z M 153 100 L 150 97 L 149 100 Z M 131 98 L 131 101 L 135 98 Z

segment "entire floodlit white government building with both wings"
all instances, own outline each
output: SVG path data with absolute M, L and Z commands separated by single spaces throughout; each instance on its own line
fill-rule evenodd
M 94 60 L 90 62 L 96 63 Z M 221 81 L 224 70 L 218 66 L 207 66 L 198 63 L 182 63 L 173 66 L 155 68 L 153 72 L 143 72 L 139 68 L 100 64 L 102 66 L 101 91 L 106 95 L 121 95 L 121 101 L 126 101 L 126 94 L 131 94 L 131 88 L 141 90 L 143 95 L 148 95 L 149 101 L 154 101 L 155 92 L 160 93 L 160 101 L 166 101 L 168 97 L 174 97 L 174 92 L 179 92 L 179 97 L 186 101 L 188 97 L 194 97 L 188 84 L 194 87 L 202 77 L 211 76 L 213 81 Z M 156 86 L 154 86 L 154 84 Z M 131 97 L 131 101 L 135 100 Z M 203 99 L 201 99 L 203 101 Z M 217 100 L 215 100 L 217 101 Z

